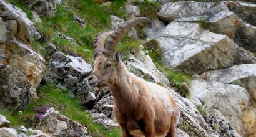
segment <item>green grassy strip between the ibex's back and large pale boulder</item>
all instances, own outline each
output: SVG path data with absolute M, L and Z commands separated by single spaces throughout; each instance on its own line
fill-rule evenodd
M 144 50 L 151 57 L 155 66 L 168 78 L 170 87 L 175 88 L 175 91 L 180 93 L 182 97 L 189 97 L 189 83 L 192 77 L 186 73 L 172 70 L 164 64 L 160 45 L 157 40 L 152 39 L 145 43 Z

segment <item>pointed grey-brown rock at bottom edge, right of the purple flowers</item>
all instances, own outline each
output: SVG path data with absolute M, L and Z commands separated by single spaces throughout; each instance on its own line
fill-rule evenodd
M 75 112 L 74 112 L 75 113 Z M 81 124 L 50 108 L 39 120 L 37 128 L 51 136 L 86 136 L 87 129 Z

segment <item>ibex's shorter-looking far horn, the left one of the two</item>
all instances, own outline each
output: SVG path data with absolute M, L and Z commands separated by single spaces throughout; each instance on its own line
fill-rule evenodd
M 107 39 L 107 36 L 110 35 L 113 31 L 103 31 L 99 32 L 99 34 L 96 35 L 96 38 L 93 42 L 93 49 L 94 49 L 94 59 L 96 58 L 97 54 L 99 52 L 103 52 L 104 50 L 104 42 Z

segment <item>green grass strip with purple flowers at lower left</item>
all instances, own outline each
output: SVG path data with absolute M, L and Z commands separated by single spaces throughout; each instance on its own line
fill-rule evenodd
M 6 116 L 7 120 L 11 121 L 12 127 L 18 127 L 19 125 L 31 127 L 35 126 L 34 123 L 38 122 L 35 117 L 36 111 L 34 111 L 34 108 L 50 105 L 55 110 L 59 110 L 61 114 L 86 126 L 91 136 L 121 136 L 119 128 L 106 130 L 94 123 L 89 111 L 82 110 L 82 106 L 79 105 L 76 98 L 70 97 L 68 92 L 68 90 L 59 90 L 55 85 L 47 82 L 46 85 L 39 88 L 40 99 L 29 103 L 26 109 L 20 110 L 22 114 L 19 115 L 19 112 L 16 111 L 11 115 L 8 111 L 2 109 L 0 109 L 0 113 Z

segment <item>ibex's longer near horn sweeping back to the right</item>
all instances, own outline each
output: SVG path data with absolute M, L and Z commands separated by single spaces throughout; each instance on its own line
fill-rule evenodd
M 129 21 L 124 22 L 124 24 L 119 26 L 116 29 L 116 31 L 114 31 L 111 34 L 110 39 L 107 40 L 107 44 L 106 44 L 104 52 L 103 52 L 104 55 L 106 57 L 112 58 L 116 52 L 116 45 L 119 44 L 122 37 L 124 37 L 124 35 L 128 31 L 130 31 L 130 28 L 134 27 L 135 25 L 137 25 L 141 22 L 150 22 L 150 24 L 151 24 L 151 21 L 149 19 L 147 19 L 147 17 L 135 17 L 133 19 L 130 19 Z

